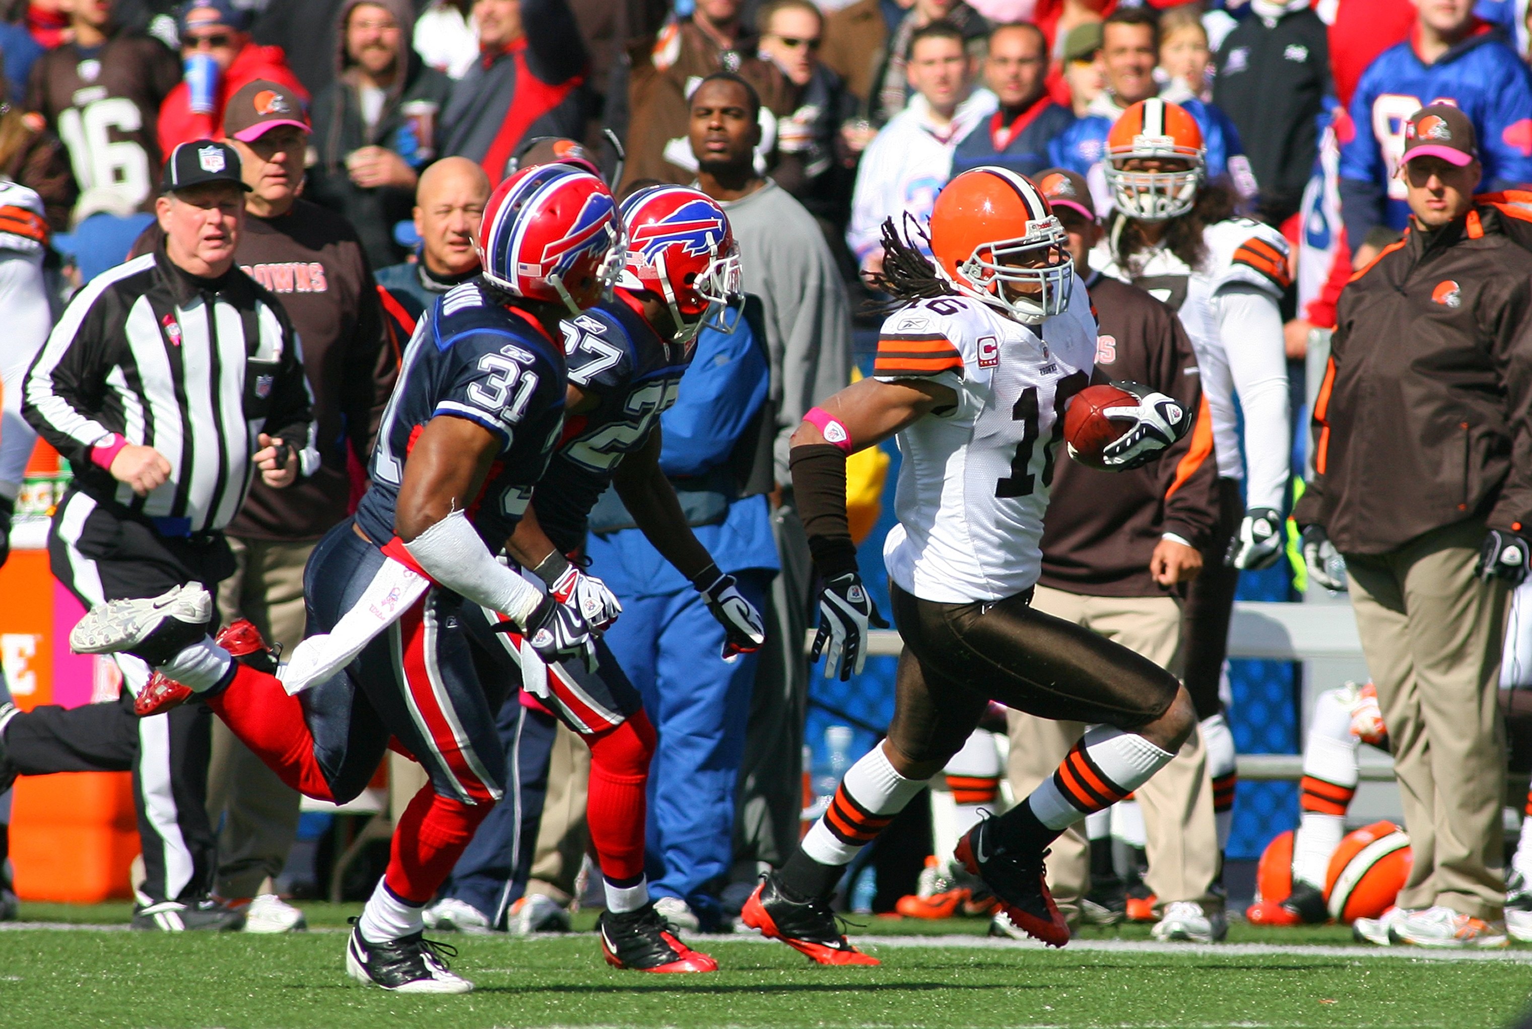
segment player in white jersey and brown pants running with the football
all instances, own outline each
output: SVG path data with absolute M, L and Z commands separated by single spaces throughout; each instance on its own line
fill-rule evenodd
M 815 657 L 861 671 L 869 626 L 884 625 L 856 571 L 846 521 L 846 458 L 898 433 L 899 524 L 884 544 L 904 639 L 893 721 L 850 767 L 824 816 L 743 920 L 823 965 L 876 965 L 841 936 L 829 899 L 846 865 L 964 746 L 990 700 L 1094 727 L 1059 770 L 956 858 L 1011 920 L 1063 946 L 1069 929 L 1043 871 L 1048 845 L 1138 789 L 1196 724 L 1174 675 L 1124 646 L 1033 611 L 1039 539 L 1065 407 L 1092 381 L 1095 320 L 1068 239 L 1025 178 L 974 168 L 931 211 L 935 266 L 884 225 L 882 288 L 905 302 L 882 326 L 873 378 L 815 407 L 794 433 L 792 482 L 823 583 Z M 1151 461 L 1190 427 L 1174 400 L 1114 410 L 1128 432 L 1106 467 Z

